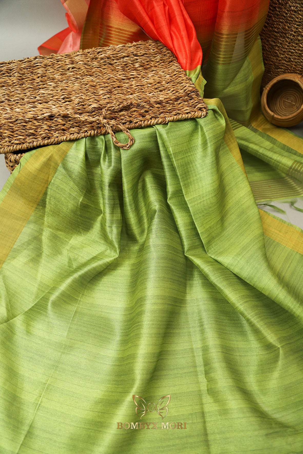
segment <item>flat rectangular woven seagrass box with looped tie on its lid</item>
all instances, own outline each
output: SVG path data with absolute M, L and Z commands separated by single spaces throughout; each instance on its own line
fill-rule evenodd
M 194 84 L 159 41 L 0 63 L 0 153 L 10 171 L 20 151 L 97 134 L 128 149 L 132 128 L 205 115 Z

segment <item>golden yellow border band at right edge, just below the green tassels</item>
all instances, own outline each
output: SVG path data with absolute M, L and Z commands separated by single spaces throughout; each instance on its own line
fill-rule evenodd
M 293 249 L 293 251 L 303 254 L 303 232 L 278 221 L 260 208 L 259 212 L 264 235 L 283 244 L 283 246 L 289 247 L 289 249 Z

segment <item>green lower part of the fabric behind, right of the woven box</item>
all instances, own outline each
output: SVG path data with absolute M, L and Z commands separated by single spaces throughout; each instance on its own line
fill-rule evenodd
M 202 69 L 207 82 L 204 80 L 205 86 L 197 84 L 197 88 L 205 97 L 222 101 L 256 202 L 291 202 L 303 197 L 303 138 L 272 125 L 262 113 L 260 84 L 264 66 L 261 41 L 257 30 L 254 33 L 255 40 L 244 54 L 243 37 L 238 37 L 242 45 L 235 49 L 234 35 L 225 36 L 230 41 L 234 63 L 224 61 L 227 49 L 220 41 L 221 35 L 215 36 L 216 51 Z M 248 33 L 247 39 L 251 38 Z

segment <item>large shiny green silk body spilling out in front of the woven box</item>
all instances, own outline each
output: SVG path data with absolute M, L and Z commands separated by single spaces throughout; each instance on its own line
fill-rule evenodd
M 0 268 L 1 454 L 302 452 L 303 255 L 264 236 L 208 107 L 130 150 L 77 140 L 50 177 Z M 151 421 L 186 429 L 117 428 Z

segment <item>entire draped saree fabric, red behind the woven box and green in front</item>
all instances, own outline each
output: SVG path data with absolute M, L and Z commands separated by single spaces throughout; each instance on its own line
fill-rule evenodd
M 48 49 L 160 39 L 208 114 L 31 150 L 6 182 L 0 452 L 302 452 L 303 231 L 256 204 L 302 195 L 302 139 L 259 109 L 268 2 L 63 3 Z

